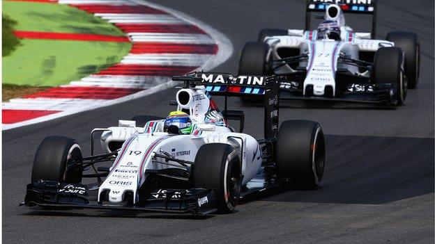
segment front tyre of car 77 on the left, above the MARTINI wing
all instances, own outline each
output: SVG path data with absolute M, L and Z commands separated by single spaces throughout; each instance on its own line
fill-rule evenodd
M 268 44 L 263 42 L 247 42 L 241 52 L 238 63 L 238 75 L 268 75 Z M 242 97 L 242 101 L 260 103 L 263 99 Z

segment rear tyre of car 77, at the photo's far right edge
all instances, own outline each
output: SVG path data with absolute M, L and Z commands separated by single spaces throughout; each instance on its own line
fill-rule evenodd
M 386 40 L 395 43 L 405 53 L 405 75 L 408 79 L 408 88 L 415 88 L 420 76 L 420 40 L 415 33 L 390 32 Z

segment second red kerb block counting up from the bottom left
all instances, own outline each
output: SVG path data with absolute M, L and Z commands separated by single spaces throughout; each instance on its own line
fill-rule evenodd
M 106 88 L 92 86 L 66 86 L 49 88 L 43 92 L 36 92 L 25 98 L 77 98 L 77 99 L 116 99 L 124 97 L 142 89 L 137 88 Z

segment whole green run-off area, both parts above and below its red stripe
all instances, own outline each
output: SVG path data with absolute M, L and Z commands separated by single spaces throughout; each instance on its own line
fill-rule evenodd
M 17 31 L 123 35 L 112 24 L 82 10 L 54 3 L 3 1 L 3 13 L 15 19 Z M 4 56 L 3 81 L 20 86 L 59 86 L 119 63 L 130 42 L 21 39 Z

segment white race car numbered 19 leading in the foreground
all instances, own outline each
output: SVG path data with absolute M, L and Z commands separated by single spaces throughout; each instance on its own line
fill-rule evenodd
M 316 188 L 325 163 L 323 131 L 305 120 L 282 122 L 278 130 L 280 79 L 197 72 L 174 77 L 184 82 L 176 111 L 162 120 L 139 115 L 94 129 L 91 156 L 83 157 L 72 138 L 49 136 L 36 152 L 22 204 L 204 215 L 233 211 L 240 197 L 258 190 Z M 264 97 L 264 138 L 242 133 L 244 113 L 227 110 L 227 102 L 221 113 L 211 94 L 225 101 Z M 238 120 L 240 131 L 228 120 Z M 94 155 L 99 131 L 105 153 Z M 96 168 L 102 162 L 111 165 Z M 85 177 L 97 182 L 86 185 Z

